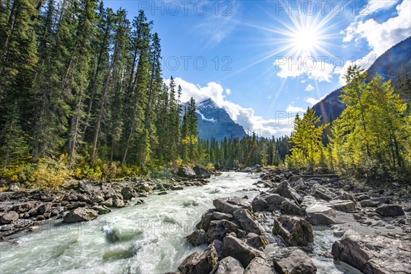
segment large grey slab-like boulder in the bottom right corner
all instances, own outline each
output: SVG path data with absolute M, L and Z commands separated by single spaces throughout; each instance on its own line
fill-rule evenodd
M 345 234 L 332 254 L 363 273 L 410 273 L 411 243 L 384 236 Z

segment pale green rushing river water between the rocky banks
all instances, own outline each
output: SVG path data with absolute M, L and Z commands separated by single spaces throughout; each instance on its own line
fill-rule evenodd
M 0 242 L 0 273 L 166 273 L 194 251 L 186 243 L 201 214 L 218 197 L 248 195 L 256 175 L 223 173 L 206 186 L 144 198 L 145 204 L 112 210 L 94 221 L 42 225 L 10 242 Z M 133 202 L 132 202 L 133 204 Z M 323 236 L 324 235 L 324 236 Z M 315 253 L 330 249 L 332 239 L 316 233 Z M 334 240 L 334 239 L 332 239 Z M 324 244 L 325 242 L 325 244 Z M 341 273 L 332 260 L 314 258 L 318 273 Z M 345 272 L 345 271 L 344 271 Z

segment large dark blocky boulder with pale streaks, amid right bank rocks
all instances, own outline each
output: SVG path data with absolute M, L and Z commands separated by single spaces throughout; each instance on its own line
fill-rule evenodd
M 294 246 L 307 246 L 314 242 L 310 223 L 295 216 L 280 216 L 274 219 L 273 234 L 281 236 L 288 244 Z

